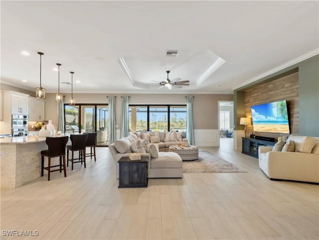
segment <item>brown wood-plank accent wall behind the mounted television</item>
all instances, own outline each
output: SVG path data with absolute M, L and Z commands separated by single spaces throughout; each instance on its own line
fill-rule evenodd
M 298 72 L 245 90 L 245 114 L 251 118 L 251 106 L 287 100 L 290 133 L 299 135 L 299 75 Z M 247 125 L 247 136 L 253 125 Z M 282 133 L 254 132 L 256 136 L 279 137 Z

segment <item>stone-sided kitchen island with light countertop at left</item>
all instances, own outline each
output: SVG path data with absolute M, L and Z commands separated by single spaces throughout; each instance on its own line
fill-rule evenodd
M 0 139 L 1 188 L 17 188 L 41 176 L 40 152 L 47 149 L 45 139 L 38 136 Z

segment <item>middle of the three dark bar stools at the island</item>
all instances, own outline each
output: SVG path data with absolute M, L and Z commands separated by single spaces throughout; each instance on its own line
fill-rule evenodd
M 85 162 L 85 143 L 86 139 L 88 137 L 88 134 L 71 134 L 70 139 L 71 139 L 71 145 L 66 146 L 67 150 L 67 166 L 69 166 L 69 161 L 72 162 L 72 170 L 73 170 L 73 163 L 80 162 L 83 164 L 84 161 L 84 167 L 86 168 L 86 162 Z M 72 158 L 69 159 L 69 151 L 72 152 Z M 74 152 L 79 151 L 79 157 L 74 158 Z M 74 161 L 74 160 L 79 160 L 79 161 Z

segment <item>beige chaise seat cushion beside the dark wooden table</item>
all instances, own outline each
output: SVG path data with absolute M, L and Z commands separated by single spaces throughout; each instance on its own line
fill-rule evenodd
M 152 158 L 151 168 L 182 168 L 183 162 L 175 152 L 159 152 L 159 158 Z

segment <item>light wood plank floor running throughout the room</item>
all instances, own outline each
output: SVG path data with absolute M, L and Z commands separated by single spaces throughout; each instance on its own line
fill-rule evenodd
M 1 190 L 0 239 L 319 239 L 319 186 L 271 181 L 256 158 L 203 147 L 247 173 L 186 173 L 150 179 L 148 188 L 118 189 L 108 148 L 87 168 L 51 173 Z M 38 231 L 4 237 L 3 231 Z M 7 232 L 5 232 L 7 233 Z

